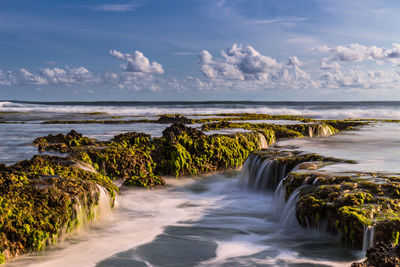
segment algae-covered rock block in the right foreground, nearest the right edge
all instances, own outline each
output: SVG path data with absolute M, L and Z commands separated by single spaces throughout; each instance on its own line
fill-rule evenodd
M 305 227 L 324 227 L 339 233 L 344 243 L 361 249 L 365 231 L 374 229 L 374 241 L 399 241 L 400 199 L 393 196 L 397 177 L 370 173 L 292 172 L 283 184 L 286 194 L 300 191 L 298 221 Z

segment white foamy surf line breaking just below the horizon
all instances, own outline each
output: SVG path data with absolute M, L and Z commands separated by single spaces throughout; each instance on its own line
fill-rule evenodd
M 399 106 L 372 106 L 368 104 L 360 107 L 349 105 L 337 107 L 319 106 L 273 106 L 263 105 L 243 105 L 243 104 L 204 104 L 204 105 L 143 105 L 143 106 L 121 106 L 121 105 L 44 105 L 44 104 L 26 104 L 15 102 L 0 102 L 0 112 L 18 111 L 18 112 L 37 112 L 37 113 L 90 113 L 105 112 L 118 115 L 158 115 L 163 113 L 180 114 L 216 114 L 216 113 L 266 113 L 266 114 L 288 114 L 310 116 L 321 119 L 343 119 L 343 118 L 376 118 L 376 119 L 400 119 Z

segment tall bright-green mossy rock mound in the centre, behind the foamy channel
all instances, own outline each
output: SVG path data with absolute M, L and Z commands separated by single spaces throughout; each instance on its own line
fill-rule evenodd
M 164 130 L 152 155 L 157 174 L 195 175 L 239 167 L 259 144 L 257 133 L 208 136 L 184 124 L 173 124 Z

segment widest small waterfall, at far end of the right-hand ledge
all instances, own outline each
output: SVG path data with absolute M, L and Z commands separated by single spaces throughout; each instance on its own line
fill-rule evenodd
M 247 184 L 251 189 L 272 191 L 287 175 L 287 169 L 285 163 L 276 160 L 264 160 L 251 155 L 243 164 L 239 180 L 240 183 Z

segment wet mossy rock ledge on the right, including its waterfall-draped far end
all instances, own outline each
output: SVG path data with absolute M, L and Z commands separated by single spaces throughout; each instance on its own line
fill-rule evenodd
M 319 170 L 326 164 L 354 162 L 307 154 L 294 147 L 257 151 L 252 157 L 261 163 L 253 163 L 258 167 L 249 177 L 260 176 L 260 166 L 268 166 L 270 174 L 263 175 L 268 181 L 249 180 L 250 187 L 258 183 L 276 189 L 280 182 L 286 201 L 297 196 L 295 212 L 300 225 L 338 234 L 341 242 L 354 248 L 372 246 L 367 261 L 354 266 L 399 266 L 400 174 Z M 278 180 L 276 174 L 280 174 Z

